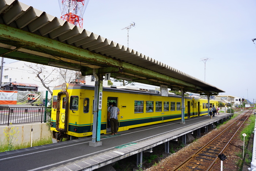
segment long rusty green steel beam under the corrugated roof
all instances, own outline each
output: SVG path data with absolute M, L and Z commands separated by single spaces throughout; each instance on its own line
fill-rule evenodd
M 13 45 L 15 47 L 23 46 L 23 49 L 29 49 L 35 52 L 41 52 L 45 54 L 49 54 L 51 58 L 35 56 L 27 53 L 21 53 L 12 51 L 7 53 L 6 49 L 1 49 L 1 54 L 6 53 L 3 57 L 19 59 L 23 61 L 33 61 L 35 63 L 48 65 L 49 61 L 58 61 L 59 58 L 65 58 L 68 60 L 76 60 L 80 62 L 86 62 L 87 67 L 84 67 L 85 73 L 91 73 L 91 69 L 95 67 L 103 67 L 100 69 L 100 73 L 108 73 L 111 71 L 118 72 L 122 74 L 118 69 L 114 68 L 122 68 L 123 72 L 134 74 L 136 76 L 142 76 L 146 78 L 155 78 L 156 80 L 161 80 L 170 84 L 179 85 L 182 87 L 195 88 L 197 90 L 206 91 L 203 87 L 195 86 L 194 84 L 187 83 L 182 80 L 178 80 L 154 71 L 150 71 L 145 68 L 141 68 L 132 64 L 128 64 L 126 62 L 118 61 L 114 58 L 103 56 L 100 54 L 96 54 L 90 52 L 89 50 L 84 50 L 79 47 L 75 47 L 72 45 L 68 45 L 66 43 L 62 43 L 50 38 L 46 38 L 37 34 L 33 34 L 27 31 L 20 30 L 18 28 L 10 27 L 4 24 L 0 24 L 0 38 L 7 39 L 8 41 L 1 41 L 1 43 Z M 0 54 L 0 56 L 1 56 Z M 36 60 L 36 61 L 35 61 Z M 80 66 L 79 64 L 75 64 Z M 91 74 L 90 74 L 91 75 Z M 138 79 L 138 78 L 137 78 Z M 141 80 L 137 80 L 137 82 L 144 82 Z M 146 81 L 147 82 L 147 81 Z M 158 81 L 157 81 L 158 82 Z M 155 83 L 154 81 L 148 81 L 148 83 L 152 85 L 159 85 L 160 83 Z M 171 86 L 170 86 L 171 87 Z

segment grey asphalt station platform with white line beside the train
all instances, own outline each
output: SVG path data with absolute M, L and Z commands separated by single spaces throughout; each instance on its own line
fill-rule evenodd
M 90 137 L 76 140 L 24 148 L 0 153 L 1 170 L 35 171 L 35 170 L 95 170 L 125 157 L 137 154 L 137 162 L 142 161 L 143 151 L 165 143 L 169 152 L 169 141 L 178 137 L 186 142 L 186 134 L 192 132 L 200 135 L 213 128 L 215 122 L 231 118 L 232 113 L 220 113 L 212 119 L 206 115 L 181 121 L 163 122 L 118 132 L 116 135 L 102 134 L 102 145 L 91 147 Z

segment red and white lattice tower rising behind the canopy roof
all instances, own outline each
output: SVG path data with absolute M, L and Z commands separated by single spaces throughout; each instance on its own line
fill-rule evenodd
M 83 14 L 89 0 L 59 0 L 61 19 L 83 28 Z

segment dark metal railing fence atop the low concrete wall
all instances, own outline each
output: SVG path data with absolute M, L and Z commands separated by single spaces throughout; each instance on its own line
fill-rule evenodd
M 42 123 L 44 122 L 44 115 L 45 107 L 0 107 L 0 125 L 9 126 L 10 123 Z

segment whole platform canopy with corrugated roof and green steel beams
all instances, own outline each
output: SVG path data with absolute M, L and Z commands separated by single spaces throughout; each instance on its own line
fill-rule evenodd
M 153 86 L 206 95 L 223 90 L 169 65 L 17 0 L 0 0 L 0 56 L 81 71 L 111 73 Z

